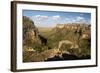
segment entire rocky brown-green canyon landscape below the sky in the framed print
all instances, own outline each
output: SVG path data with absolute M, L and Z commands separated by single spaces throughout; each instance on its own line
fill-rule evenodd
M 36 27 L 23 16 L 23 62 L 91 58 L 91 26 L 85 23 Z

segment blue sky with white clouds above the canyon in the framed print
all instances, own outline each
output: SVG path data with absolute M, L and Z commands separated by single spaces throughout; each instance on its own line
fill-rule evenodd
M 88 23 L 91 24 L 91 13 L 23 10 L 23 16 L 29 17 L 38 27 L 54 27 L 57 24 Z

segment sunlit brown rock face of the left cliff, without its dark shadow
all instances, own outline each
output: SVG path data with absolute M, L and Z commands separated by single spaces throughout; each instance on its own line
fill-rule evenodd
M 37 46 L 41 46 L 38 29 L 30 18 L 23 16 L 23 50 L 34 50 Z

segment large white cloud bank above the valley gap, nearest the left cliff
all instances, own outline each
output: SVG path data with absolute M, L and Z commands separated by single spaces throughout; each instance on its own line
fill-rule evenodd
M 37 26 L 54 26 L 54 24 L 59 22 L 60 18 L 61 17 L 59 15 L 34 15 L 31 17 Z

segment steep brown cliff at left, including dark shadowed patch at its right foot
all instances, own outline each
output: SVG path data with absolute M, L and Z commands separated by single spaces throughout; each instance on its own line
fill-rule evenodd
M 23 51 L 41 51 L 47 44 L 47 39 L 40 35 L 34 22 L 23 16 Z

